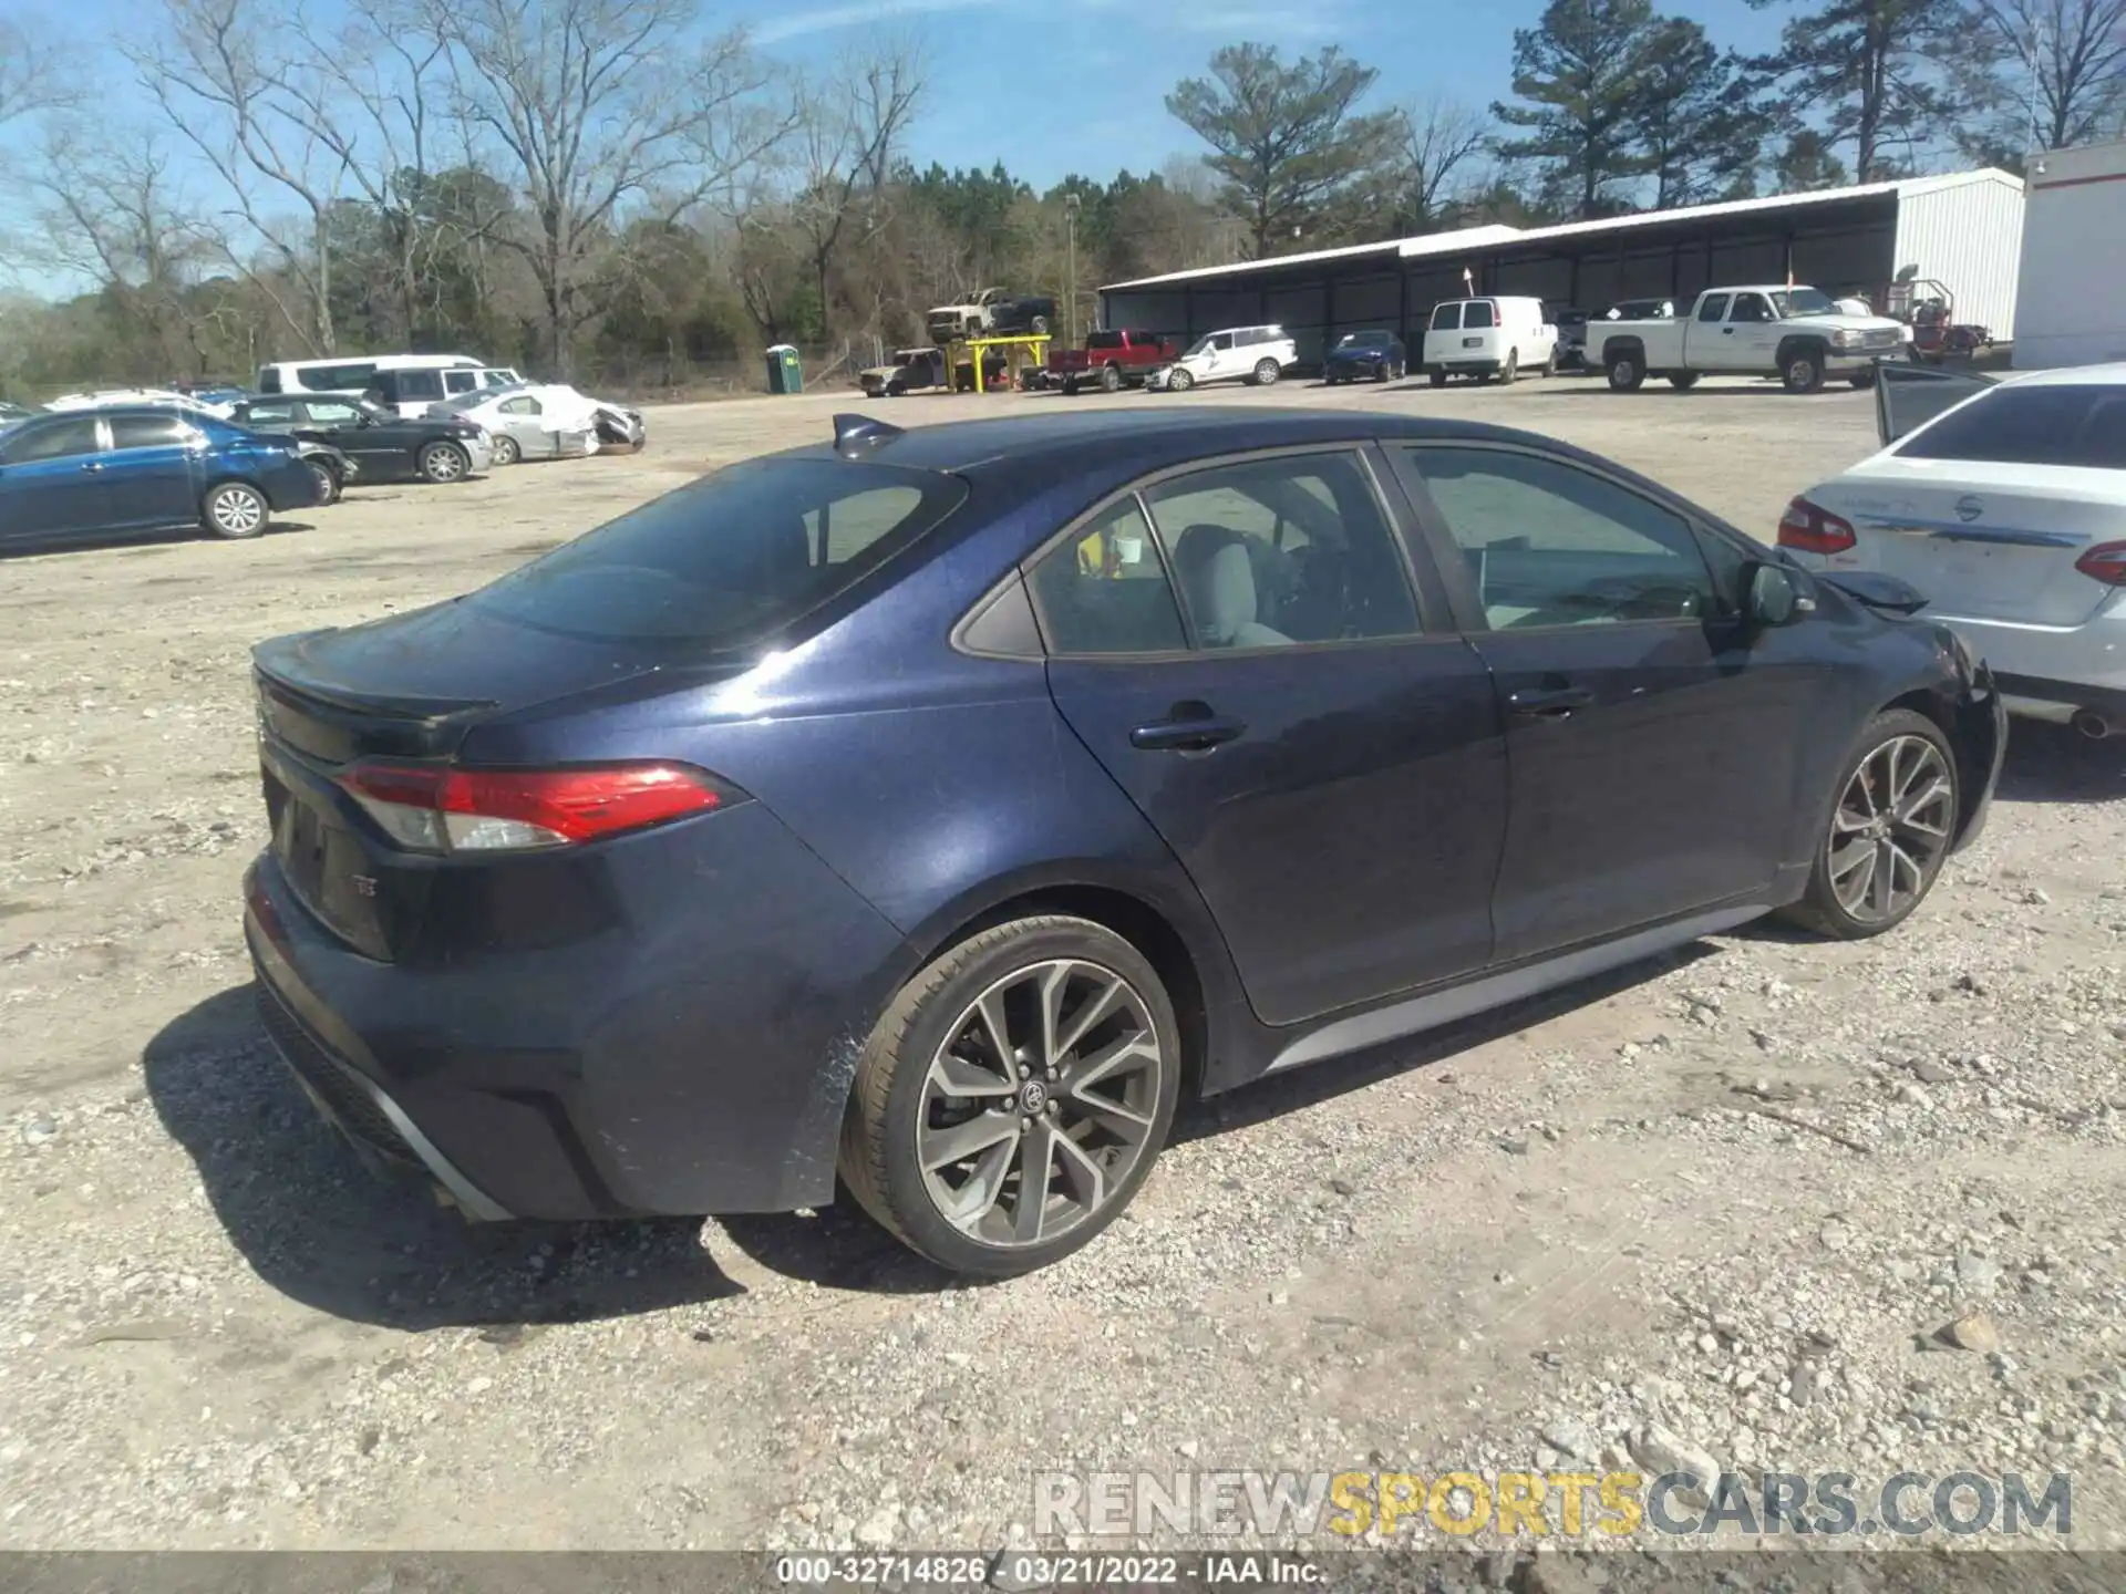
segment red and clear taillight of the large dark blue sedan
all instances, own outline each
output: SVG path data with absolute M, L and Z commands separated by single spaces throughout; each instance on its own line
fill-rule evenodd
M 578 846 L 731 801 L 729 786 L 674 763 L 597 769 L 446 769 L 357 763 L 340 786 L 417 852 Z

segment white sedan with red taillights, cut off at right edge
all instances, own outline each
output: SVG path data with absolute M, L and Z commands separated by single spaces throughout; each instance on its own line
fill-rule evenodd
M 1886 363 L 1875 417 L 1888 446 L 1796 497 L 1779 546 L 1916 587 L 2011 712 L 2126 731 L 2126 363 Z

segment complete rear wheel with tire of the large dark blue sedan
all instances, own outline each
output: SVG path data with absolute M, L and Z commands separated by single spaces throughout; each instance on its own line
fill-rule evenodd
M 857 1065 L 842 1177 L 940 1267 L 1029 1273 L 1129 1205 L 1178 1092 L 1174 1007 L 1137 948 L 1084 918 L 1018 918 L 887 1007 Z

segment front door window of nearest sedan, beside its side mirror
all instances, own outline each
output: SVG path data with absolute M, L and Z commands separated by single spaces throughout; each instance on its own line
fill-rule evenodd
M 1722 614 L 1680 514 L 1580 465 L 1501 448 L 1412 448 L 1492 631 Z

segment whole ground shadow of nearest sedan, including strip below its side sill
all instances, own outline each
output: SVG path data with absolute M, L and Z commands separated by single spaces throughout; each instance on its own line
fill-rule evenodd
M 1182 1103 L 1171 1139 L 1233 1133 L 1448 1063 L 1711 952 L 1694 942 L 1418 1039 Z M 472 1326 L 506 1343 L 538 1324 L 744 1294 L 712 1260 L 695 1218 L 468 1224 L 417 1184 L 370 1175 L 274 1054 L 251 984 L 166 1024 L 142 1065 L 155 1112 L 198 1165 L 236 1250 L 266 1284 L 317 1311 L 408 1333 Z M 959 1284 L 865 1218 L 846 1190 L 819 1211 L 721 1218 L 706 1228 L 708 1239 L 719 1235 L 759 1267 L 821 1288 L 933 1294 Z

